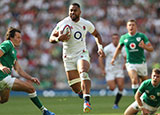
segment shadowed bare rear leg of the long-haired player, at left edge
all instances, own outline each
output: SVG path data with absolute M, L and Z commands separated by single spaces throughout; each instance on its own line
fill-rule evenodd
M 6 103 L 9 99 L 10 89 L 4 89 L 0 91 L 0 103 Z

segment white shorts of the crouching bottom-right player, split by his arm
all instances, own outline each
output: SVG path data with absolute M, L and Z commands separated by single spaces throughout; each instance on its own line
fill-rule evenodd
M 154 114 L 154 113 L 158 110 L 158 108 L 152 107 L 152 106 L 146 104 L 146 103 L 143 101 L 143 99 L 141 99 L 141 101 L 142 101 L 142 104 L 143 104 L 144 108 L 147 109 L 147 110 L 149 110 L 151 115 Z M 135 110 L 138 110 L 138 111 L 140 110 L 137 101 L 133 102 L 133 103 L 131 104 L 131 107 L 132 107 L 133 109 L 135 109 Z

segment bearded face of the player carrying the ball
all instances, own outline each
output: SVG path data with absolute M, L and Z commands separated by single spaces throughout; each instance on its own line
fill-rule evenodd
M 81 10 L 76 5 L 70 5 L 69 7 L 69 16 L 74 22 L 78 22 L 80 18 Z

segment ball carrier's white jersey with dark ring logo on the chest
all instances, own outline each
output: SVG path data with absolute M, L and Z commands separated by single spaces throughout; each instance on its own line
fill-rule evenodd
M 78 22 L 74 22 L 68 16 L 57 24 L 56 30 L 61 31 L 65 25 L 71 27 L 71 37 L 67 42 L 63 42 L 63 56 L 73 58 L 82 50 L 87 50 L 85 41 L 86 34 L 87 32 L 93 33 L 95 27 L 88 20 L 80 18 Z

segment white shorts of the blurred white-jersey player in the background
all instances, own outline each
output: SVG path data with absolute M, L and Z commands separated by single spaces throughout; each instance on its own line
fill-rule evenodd
M 114 70 L 114 71 L 107 70 L 106 81 L 115 80 L 116 78 L 124 78 L 123 70 L 121 69 Z

